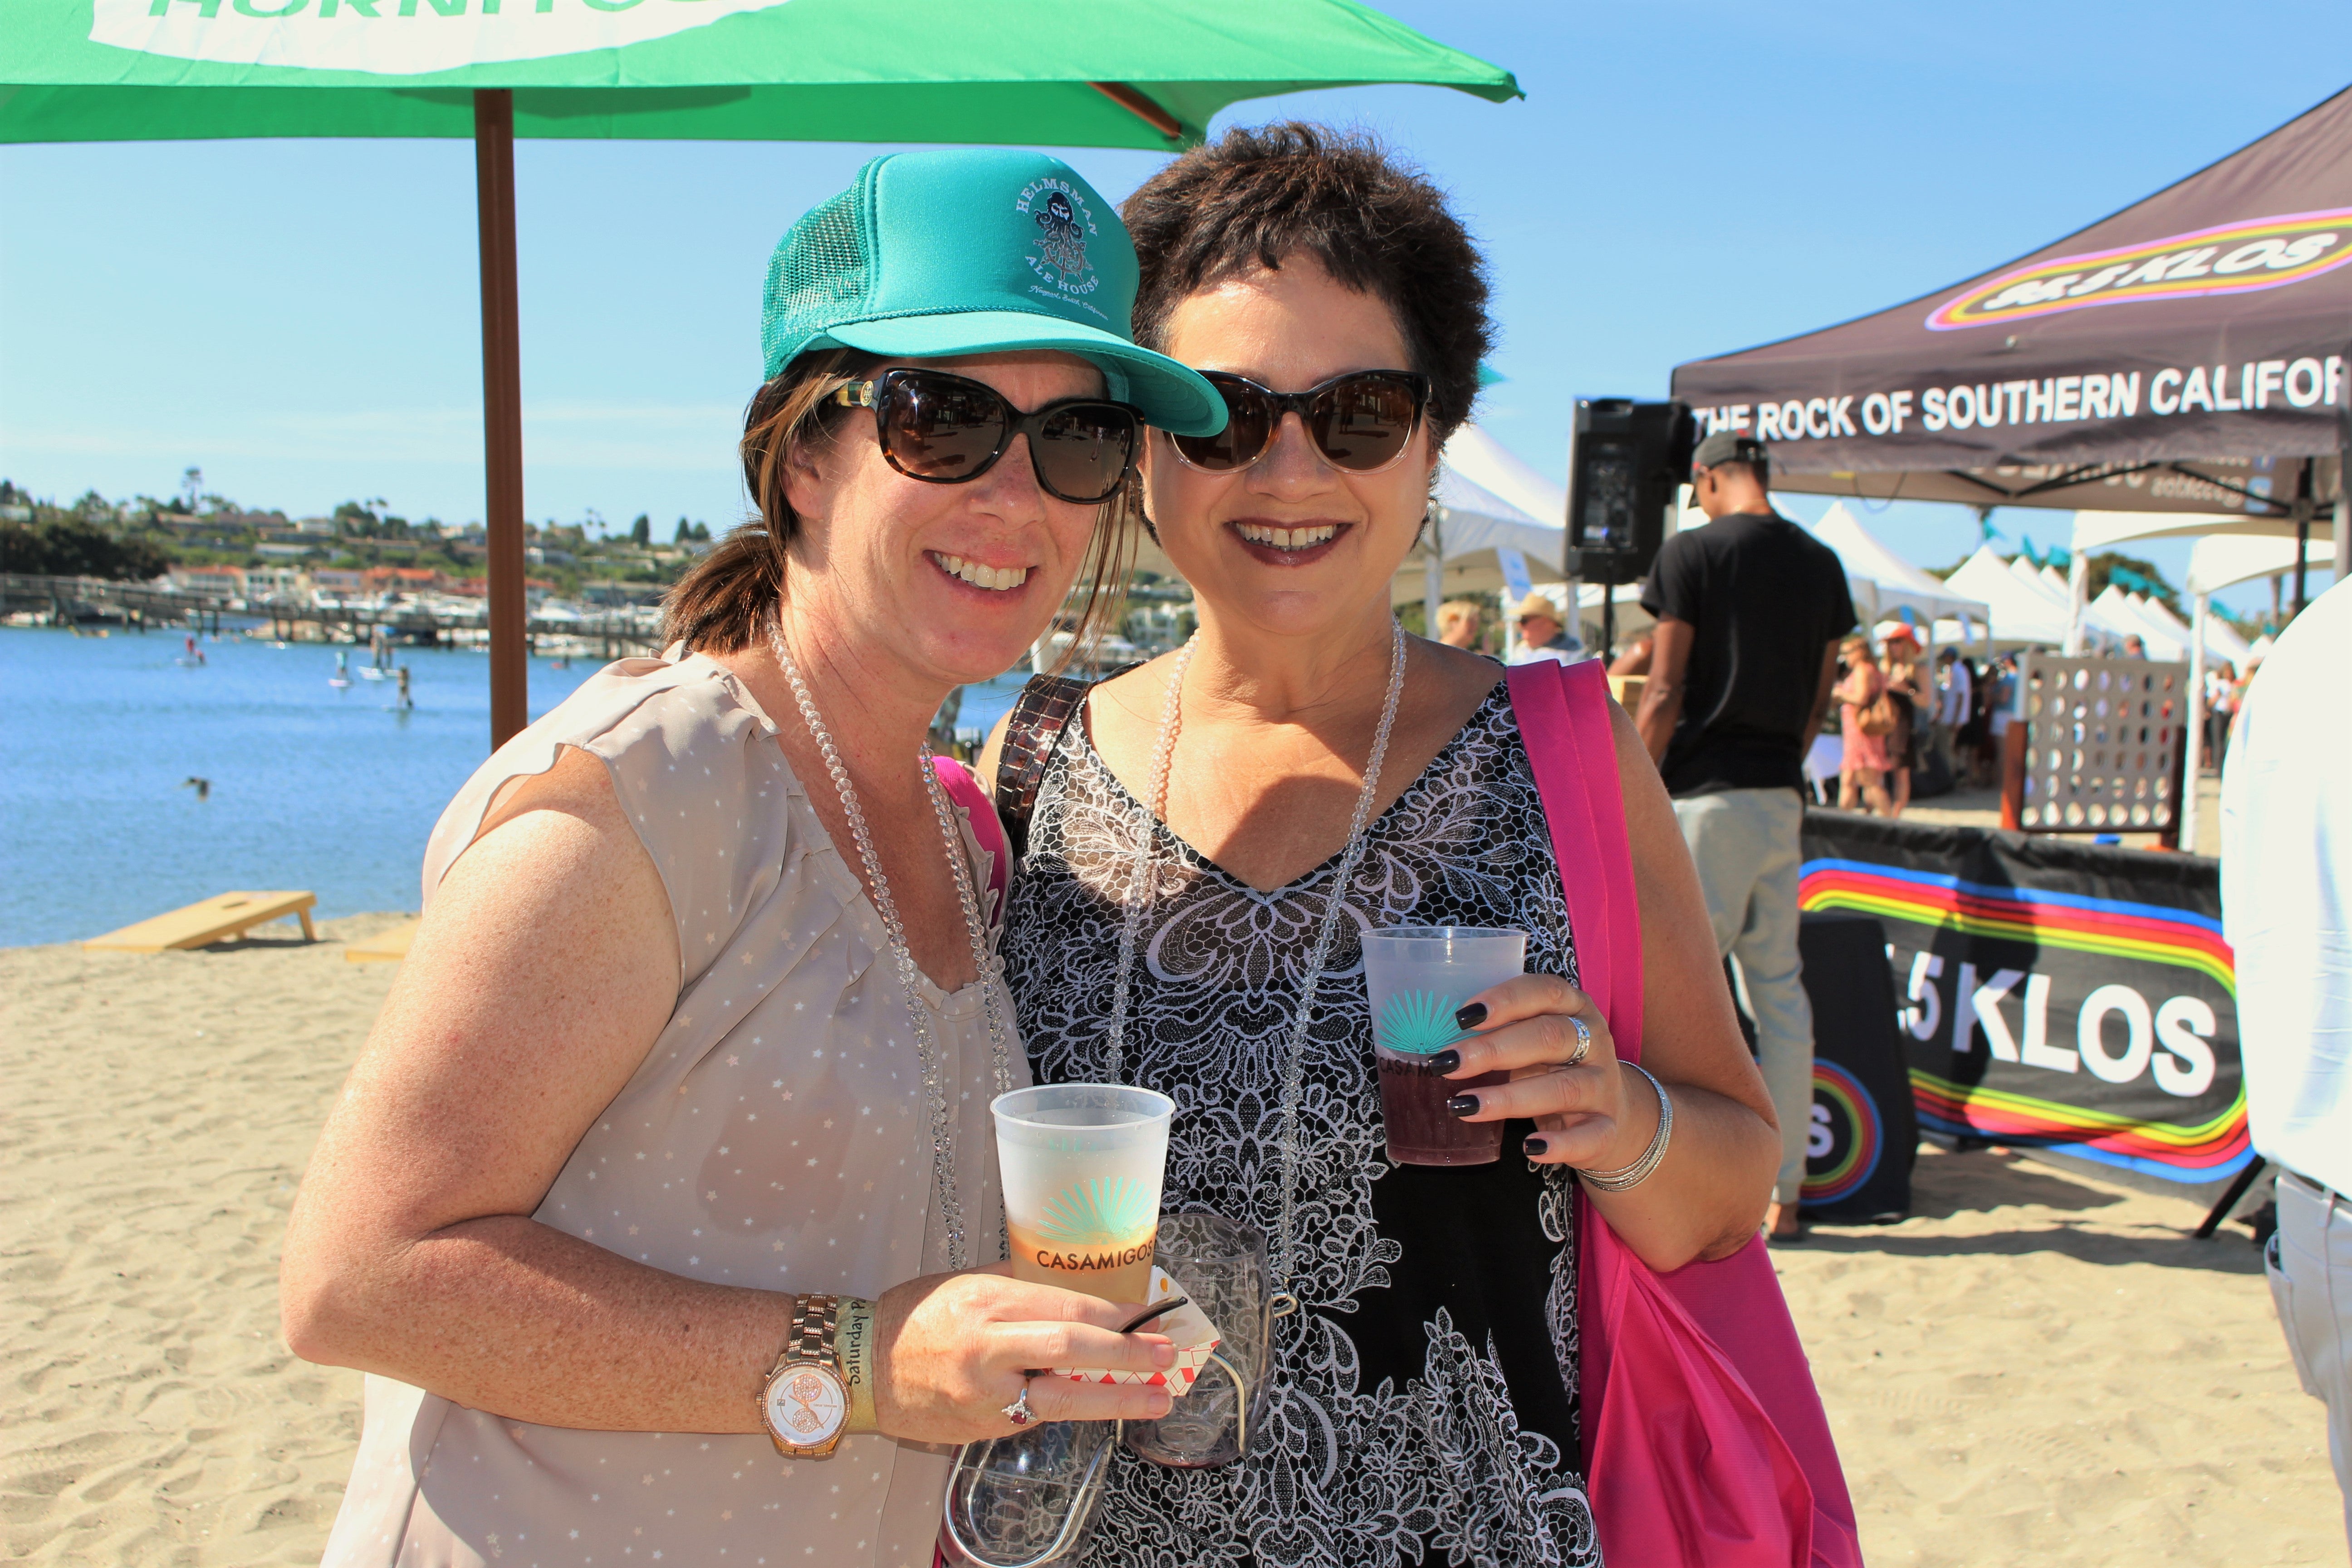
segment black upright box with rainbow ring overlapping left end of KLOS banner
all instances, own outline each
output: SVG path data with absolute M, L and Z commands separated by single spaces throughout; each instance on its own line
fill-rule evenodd
M 1872 914 L 1806 914 L 1797 952 L 1813 1001 L 1804 1215 L 1846 1225 L 1900 1220 L 1910 1213 L 1919 1117 L 1896 1037 L 1886 929 Z

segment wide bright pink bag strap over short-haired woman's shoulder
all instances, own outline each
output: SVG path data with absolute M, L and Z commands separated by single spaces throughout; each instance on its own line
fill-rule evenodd
M 1642 905 L 1625 844 L 1625 790 L 1609 722 L 1609 672 L 1597 658 L 1512 665 L 1510 708 L 1536 773 L 1559 856 L 1576 976 L 1602 1004 L 1616 1051 L 1642 1060 Z M 1583 780 L 1583 788 L 1571 788 Z

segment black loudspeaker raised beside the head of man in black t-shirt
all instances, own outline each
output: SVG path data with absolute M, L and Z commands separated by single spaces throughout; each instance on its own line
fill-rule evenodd
M 1637 583 L 1665 543 L 1677 487 L 1691 477 L 1698 423 L 1679 402 L 1578 397 L 1569 435 L 1569 552 L 1585 583 Z

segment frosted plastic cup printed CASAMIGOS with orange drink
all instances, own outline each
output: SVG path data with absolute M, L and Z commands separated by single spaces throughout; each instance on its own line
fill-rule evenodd
M 1145 1300 L 1176 1100 L 1122 1084 L 1040 1084 L 990 1110 L 1014 1279 Z

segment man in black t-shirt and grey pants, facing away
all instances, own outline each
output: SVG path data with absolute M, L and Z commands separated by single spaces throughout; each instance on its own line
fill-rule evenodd
M 1853 628 L 1846 569 L 1771 510 L 1764 442 L 1717 433 L 1691 456 L 1708 527 L 1677 534 L 1642 583 L 1658 618 L 1635 724 L 1698 863 L 1715 950 L 1740 966 L 1780 1119 L 1771 1234 L 1797 1234 L 1813 1121 L 1813 1006 L 1797 959 L 1804 752 Z

